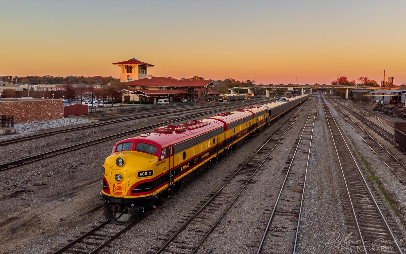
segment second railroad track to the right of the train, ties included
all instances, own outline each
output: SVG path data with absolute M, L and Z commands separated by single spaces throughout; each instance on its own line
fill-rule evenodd
M 302 133 L 296 140 L 296 148 L 292 148 L 292 156 L 289 157 L 283 169 L 286 173 L 285 179 L 259 243 L 257 254 L 270 251 L 288 254 L 296 251 L 317 102 L 318 99 L 313 104 Z

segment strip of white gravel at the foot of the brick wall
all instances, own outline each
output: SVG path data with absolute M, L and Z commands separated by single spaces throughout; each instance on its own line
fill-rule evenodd
M 97 122 L 96 120 L 81 119 L 81 118 L 60 118 L 60 119 L 50 119 L 42 121 L 32 121 L 24 122 L 20 124 L 14 124 L 16 132 L 33 132 L 39 130 L 46 130 L 52 128 L 59 128 L 63 126 L 77 125 L 77 124 L 88 124 L 92 122 Z

